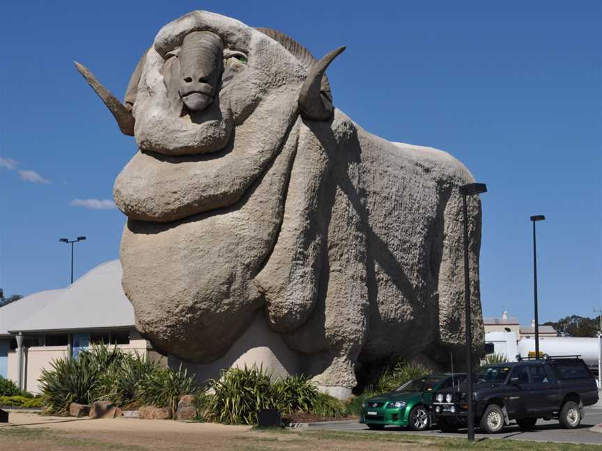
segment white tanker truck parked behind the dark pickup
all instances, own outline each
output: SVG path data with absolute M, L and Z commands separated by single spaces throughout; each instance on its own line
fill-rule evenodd
M 601 340 L 581 337 L 539 337 L 539 353 L 548 356 L 580 356 L 590 370 L 598 373 L 598 359 Z M 516 356 L 534 357 L 535 339 L 523 338 L 516 341 L 511 332 L 489 332 L 485 334 L 486 354 L 504 354 L 509 362 Z

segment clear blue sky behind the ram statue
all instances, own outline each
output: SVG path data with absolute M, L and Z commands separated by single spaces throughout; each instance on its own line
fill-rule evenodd
M 76 72 L 122 96 L 160 27 L 190 10 L 346 45 L 334 102 L 369 132 L 450 152 L 482 196 L 484 314 L 532 317 L 532 214 L 543 321 L 602 303 L 599 1 L 26 1 L 2 6 L 0 287 L 63 287 L 118 257 L 114 179 L 134 155 Z M 88 201 L 98 200 L 100 202 Z M 102 202 L 105 201 L 105 202 Z M 108 205 L 107 205 L 108 204 Z M 93 208 L 94 207 L 94 208 Z

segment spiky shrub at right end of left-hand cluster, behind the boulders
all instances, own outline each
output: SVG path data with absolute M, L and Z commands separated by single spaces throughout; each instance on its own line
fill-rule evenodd
M 148 367 L 152 367 L 149 364 Z M 140 365 L 138 369 L 144 368 Z M 195 390 L 194 377 L 189 376 L 181 365 L 178 370 L 169 368 L 152 367 L 153 370 L 140 379 L 135 390 L 135 397 L 139 404 L 157 407 L 170 407 L 176 411 L 182 395 L 193 393 Z

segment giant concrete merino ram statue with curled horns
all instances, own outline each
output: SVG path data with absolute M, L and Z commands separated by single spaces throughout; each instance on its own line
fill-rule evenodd
M 283 33 L 195 11 L 164 26 L 123 104 L 123 290 L 137 328 L 201 379 L 256 363 L 345 397 L 358 363 L 463 353 L 463 221 L 474 182 L 446 152 L 392 143 L 334 108 Z M 475 349 L 479 199 L 469 200 Z

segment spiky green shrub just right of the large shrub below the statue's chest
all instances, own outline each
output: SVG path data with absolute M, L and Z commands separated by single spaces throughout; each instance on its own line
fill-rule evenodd
M 309 412 L 320 396 L 318 388 L 302 375 L 278 379 L 272 391 L 275 405 L 282 413 Z

